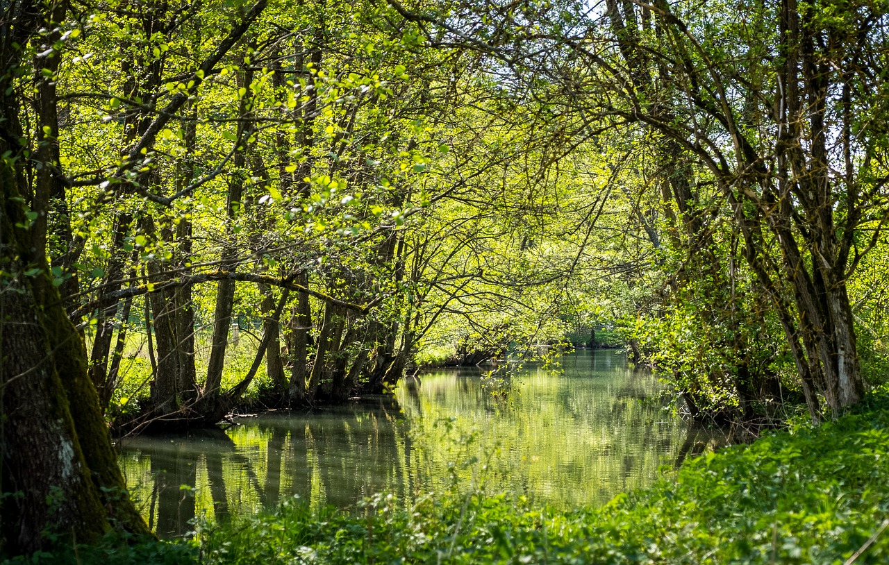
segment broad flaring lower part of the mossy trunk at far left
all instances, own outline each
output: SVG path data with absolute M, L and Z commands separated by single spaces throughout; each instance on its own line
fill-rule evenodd
M 5 128 L 16 113 L 11 102 L 0 99 Z M 0 152 L 10 149 L 4 136 Z M 21 493 L 0 506 L 0 550 L 45 548 L 44 531 L 78 543 L 108 529 L 147 534 L 117 468 L 83 338 L 47 275 L 45 253 L 17 227 L 28 220 L 12 166 L 3 165 L 0 181 L 0 269 L 15 274 L 0 290 L 0 485 Z M 25 275 L 32 267 L 42 273 Z

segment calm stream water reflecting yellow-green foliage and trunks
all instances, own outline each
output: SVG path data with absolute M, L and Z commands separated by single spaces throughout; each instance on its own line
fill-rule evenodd
M 597 505 L 694 449 L 658 383 L 622 354 L 581 351 L 563 368 L 521 371 L 506 400 L 485 390 L 481 370 L 434 370 L 395 398 L 126 440 L 120 462 L 151 527 L 172 536 L 196 515 L 252 513 L 292 495 L 348 507 L 391 492 L 409 504 L 430 489 L 484 485 Z

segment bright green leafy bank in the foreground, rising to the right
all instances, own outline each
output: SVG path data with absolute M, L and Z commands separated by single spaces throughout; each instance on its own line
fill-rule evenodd
M 275 513 L 197 527 L 198 541 L 81 547 L 115 563 L 855 563 L 889 560 L 889 394 L 818 428 L 797 423 L 666 471 L 597 509 L 556 512 L 455 486 L 410 510 Z M 60 555 L 34 562 L 59 562 Z

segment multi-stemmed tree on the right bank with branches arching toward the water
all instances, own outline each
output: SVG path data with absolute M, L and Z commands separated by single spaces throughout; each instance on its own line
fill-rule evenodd
M 813 418 L 817 394 L 833 410 L 861 399 L 846 281 L 889 210 L 883 4 L 447 9 L 440 27 L 506 63 L 566 130 L 590 141 L 650 131 L 645 150 L 670 183 L 717 187 Z

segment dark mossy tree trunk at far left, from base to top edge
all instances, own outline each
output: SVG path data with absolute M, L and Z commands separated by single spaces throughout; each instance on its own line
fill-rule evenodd
M 36 136 L 25 131 L 23 94 L 12 82 L 32 62 L 23 45 L 47 53 L 45 68 L 58 66 L 53 34 L 38 30 L 58 28 L 66 5 L 11 4 L 0 44 L 0 488 L 8 495 L 0 497 L 0 553 L 45 548 L 46 532 L 78 543 L 110 529 L 148 534 L 117 467 L 84 339 L 57 290 L 65 281 L 47 262 L 46 213 L 60 173 L 39 159 L 58 165 L 54 149 L 44 150 L 56 135 L 52 124 Z M 41 95 L 43 107 L 56 103 L 52 88 Z M 54 123 L 51 114 L 42 113 Z M 41 147 L 30 158 L 20 142 L 28 138 Z M 32 184 L 35 170 L 43 172 Z

